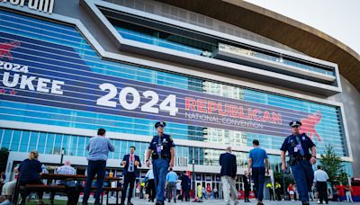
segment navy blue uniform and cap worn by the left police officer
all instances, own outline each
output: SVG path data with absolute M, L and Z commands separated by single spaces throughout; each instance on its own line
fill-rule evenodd
M 159 126 L 157 124 L 155 127 Z M 162 122 L 165 124 L 165 122 Z M 165 127 L 165 125 L 162 125 Z M 154 171 L 154 181 L 157 189 L 157 202 L 164 203 L 164 192 L 166 183 L 166 174 L 171 159 L 170 149 L 175 147 L 173 138 L 170 135 L 163 134 L 162 136 L 156 135 L 152 138 L 149 149 L 152 150 L 151 158 Z

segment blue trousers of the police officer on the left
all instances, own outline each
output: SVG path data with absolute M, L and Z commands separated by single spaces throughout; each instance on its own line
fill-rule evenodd
M 164 201 L 165 180 L 169 163 L 166 159 L 158 158 L 152 161 L 155 186 L 157 187 L 157 201 Z

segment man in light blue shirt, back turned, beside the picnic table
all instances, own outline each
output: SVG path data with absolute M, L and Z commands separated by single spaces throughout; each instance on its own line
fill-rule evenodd
M 83 204 L 87 205 L 90 195 L 91 184 L 93 183 L 95 174 L 96 177 L 96 192 L 94 193 L 94 204 L 100 203 L 100 194 L 103 192 L 103 178 L 106 171 L 107 156 L 110 152 L 115 150 L 109 138 L 105 138 L 106 130 L 98 129 L 97 136 L 90 138 L 86 146 L 89 151 L 87 156 L 87 172 L 86 172 L 86 185 L 84 189 Z

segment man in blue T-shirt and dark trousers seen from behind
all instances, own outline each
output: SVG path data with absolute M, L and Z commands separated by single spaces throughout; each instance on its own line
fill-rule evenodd
M 265 174 L 269 173 L 269 160 L 266 150 L 260 148 L 257 139 L 253 140 L 253 149 L 248 154 L 248 173 L 252 174 L 257 196 L 257 205 L 263 204 Z M 264 163 L 265 162 L 265 163 Z

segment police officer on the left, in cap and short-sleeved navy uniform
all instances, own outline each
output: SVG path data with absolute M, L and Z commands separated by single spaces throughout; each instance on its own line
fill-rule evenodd
M 157 135 L 152 138 L 148 146 L 148 152 L 145 156 L 146 165 L 149 166 L 149 157 L 151 155 L 154 180 L 157 189 L 157 205 L 164 203 L 164 189 L 167 169 L 173 168 L 175 159 L 175 144 L 171 136 L 164 134 L 166 123 L 164 121 L 157 121 L 155 128 Z

